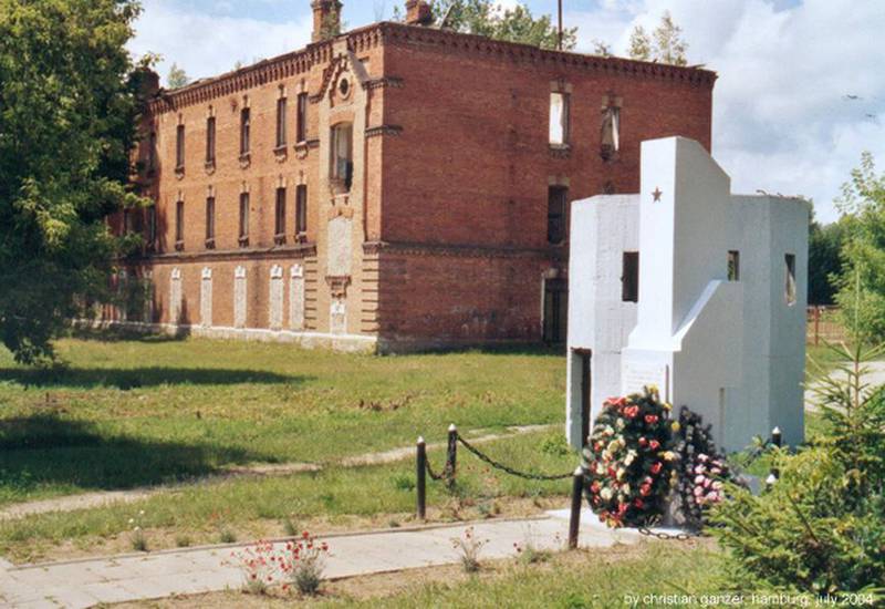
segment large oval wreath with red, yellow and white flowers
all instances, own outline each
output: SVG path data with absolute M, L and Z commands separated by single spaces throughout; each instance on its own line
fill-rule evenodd
M 670 410 L 654 386 L 603 404 L 582 466 L 585 496 L 608 526 L 647 526 L 664 514 L 677 458 Z

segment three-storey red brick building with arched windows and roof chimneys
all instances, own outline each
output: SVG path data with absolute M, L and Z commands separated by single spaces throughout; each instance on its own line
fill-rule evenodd
M 712 72 L 375 23 L 149 102 L 129 322 L 407 350 L 560 341 L 569 202 L 710 147 Z M 340 13 L 340 11 L 337 11 Z M 334 25 L 334 23 L 332 23 Z

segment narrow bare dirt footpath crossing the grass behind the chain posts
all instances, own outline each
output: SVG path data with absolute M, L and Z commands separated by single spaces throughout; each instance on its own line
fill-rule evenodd
M 509 433 L 503 434 L 487 434 L 478 437 L 471 437 L 470 442 L 473 444 L 483 444 L 497 440 L 504 440 L 518 435 L 541 432 L 554 429 L 556 425 L 525 425 L 509 427 Z M 428 444 L 427 448 L 439 450 L 444 448 L 444 443 Z M 326 467 L 363 467 L 366 465 L 383 465 L 386 463 L 395 463 L 415 455 L 415 447 L 395 448 L 383 453 L 368 453 L 363 455 L 355 455 L 342 460 L 332 461 L 325 464 L 316 463 L 279 463 L 279 464 L 251 464 L 251 465 L 236 465 L 227 467 L 223 473 L 205 476 L 187 483 L 194 484 L 209 484 L 219 479 L 238 477 L 238 476 L 288 476 L 292 474 L 302 474 L 305 472 L 320 472 Z M 43 499 L 37 502 L 27 502 L 21 504 L 13 504 L 0 509 L 0 522 L 13 520 L 23 518 L 25 516 L 34 516 L 38 514 L 48 514 L 51 512 L 73 512 L 75 509 L 92 509 L 103 507 L 116 503 L 134 503 L 146 499 L 153 495 L 168 493 L 180 488 L 185 484 L 178 485 L 164 485 L 153 486 L 145 488 L 133 488 L 128 491 L 103 491 L 98 493 L 83 493 L 80 495 L 69 495 L 64 497 L 54 497 L 51 499 Z

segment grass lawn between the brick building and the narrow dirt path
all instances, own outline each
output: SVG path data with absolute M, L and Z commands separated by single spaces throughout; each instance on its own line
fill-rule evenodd
M 562 421 L 554 352 L 360 357 L 285 344 L 63 340 L 60 370 L 0 351 L 0 506 L 253 462 L 322 463 L 418 434 Z

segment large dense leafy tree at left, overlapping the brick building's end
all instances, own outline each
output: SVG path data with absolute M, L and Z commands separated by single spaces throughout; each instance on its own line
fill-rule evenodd
M 0 340 L 52 357 L 114 256 L 105 217 L 126 188 L 146 72 L 125 50 L 133 0 L 0 0 Z

